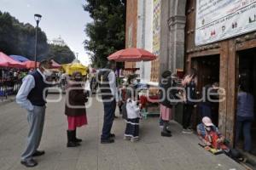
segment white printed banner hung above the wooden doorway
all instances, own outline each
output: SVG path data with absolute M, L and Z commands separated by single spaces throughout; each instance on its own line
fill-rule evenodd
M 256 0 L 196 0 L 195 45 L 256 31 Z

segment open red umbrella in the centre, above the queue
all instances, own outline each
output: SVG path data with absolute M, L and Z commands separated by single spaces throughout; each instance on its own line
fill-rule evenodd
M 141 48 L 126 48 L 121 49 L 114 54 L 108 56 L 109 60 L 117 62 L 136 62 L 136 61 L 151 61 L 156 59 L 156 56 L 145 49 Z

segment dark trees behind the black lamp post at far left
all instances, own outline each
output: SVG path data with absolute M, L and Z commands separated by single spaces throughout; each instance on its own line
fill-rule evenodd
M 33 59 L 36 29 L 20 23 L 9 13 L 0 13 L 0 50 L 5 54 L 18 54 Z M 44 31 L 38 29 L 38 56 L 47 54 L 49 47 Z M 39 59 L 42 57 L 38 57 Z

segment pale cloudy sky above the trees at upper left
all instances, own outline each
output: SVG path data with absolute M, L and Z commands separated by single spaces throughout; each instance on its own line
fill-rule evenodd
M 88 37 L 84 28 L 92 20 L 84 11 L 84 3 L 85 0 L 0 0 L 0 10 L 32 26 L 36 26 L 34 14 L 41 14 L 39 27 L 47 38 L 61 36 L 74 53 L 79 53 L 81 63 L 88 65 L 90 58 L 83 45 Z

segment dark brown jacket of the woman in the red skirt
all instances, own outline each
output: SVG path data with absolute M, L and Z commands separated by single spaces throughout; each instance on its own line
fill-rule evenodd
M 72 89 L 80 88 L 80 89 Z M 67 116 L 83 116 L 86 115 L 85 102 L 87 96 L 80 84 L 72 84 L 67 88 L 67 98 L 65 106 L 65 115 Z M 68 105 L 69 104 L 69 105 Z

